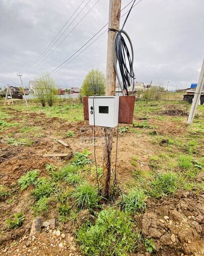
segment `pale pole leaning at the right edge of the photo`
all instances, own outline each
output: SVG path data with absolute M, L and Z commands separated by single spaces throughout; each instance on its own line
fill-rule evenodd
M 200 95 L 201 95 L 201 92 L 202 92 L 202 89 L 203 89 L 203 83 L 204 83 L 204 59 L 202 61 L 202 67 L 201 67 L 201 70 L 200 70 L 198 85 L 196 87 L 196 92 L 195 92 L 194 97 L 193 97 L 193 102 L 192 102 L 192 105 L 191 105 L 191 110 L 190 110 L 190 113 L 189 113 L 187 124 L 192 124 L 193 123 L 193 119 L 194 119 L 194 116 L 196 114 L 196 108 L 198 106 L 198 103 L 200 102 Z

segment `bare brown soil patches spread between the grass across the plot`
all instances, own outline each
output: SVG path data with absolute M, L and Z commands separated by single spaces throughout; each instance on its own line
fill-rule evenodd
M 171 111 L 171 112 L 169 112 Z M 169 109 L 165 115 L 172 115 Z M 176 110 L 177 111 L 177 110 Z M 45 114 L 24 113 L 22 111 L 8 108 L 9 114 L 15 115 L 15 122 L 22 123 L 26 120 L 27 126 L 39 126 L 42 129 L 39 138 L 35 138 L 32 146 L 11 146 L 5 142 L 5 133 L 0 134 L 0 180 L 1 185 L 10 189 L 16 189 L 13 202 L 6 200 L 0 202 L 0 255 L 80 255 L 79 249 L 74 241 L 64 243 L 63 249 L 58 246 L 62 239 L 53 236 L 52 232 L 43 231 L 35 235 L 36 238 L 29 237 L 31 222 L 33 219 L 30 206 L 33 199 L 29 197 L 31 187 L 25 191 L 17 189 L 16 182 L 28 170 L 38 169 L 40 175 L 46 175 L 45 165 L 53 163 L 57 167 L 67 163 L 67 159 L 44 157 L 47 153 L 69 153 L 81 151 L 83 148 L 94 153 L 93 129 L 87 122 L 70 123 L 61 118 L 48 118 Z M 180 113 L 180 115 L 185 115 Z M 7 119 L 9 122 L 9 119 Z M 11 118 L 10 121 L 13 121 Z M 187 127 L 184 123 L 170 121 L 158 121 L 154 119 L 150 122 L 157 126 L 157 133 L 164 135 L 184 134 Z M 6 133 L 16 132 L 16 127 L 9 127 Z M 75 137 L 66 138 L 67 131 L 73 131 Z M 116 135 L 116 129 L 114 131 Z M 103 129 L 96 130 L 96 155 L 98 165 L 102 164 L 103 156 Z M 56 139 L 63 139 L 70 147 L 65 148 Z M 115 142 L 113 144 L 113 157 L 115 156 Z M 122 186 L 132 180 L 133 166 L 131 160 L 133 155 L 139 158 L 139 165 L 144 171 L 149 171 L 149 159 L 152 155 L 159 154 L 161 147 L 152 144 L 148 137 L 143 134 L 125 133 L 119 134 L 118 156 L 117 156 L 117 177 L 118 183 Z M 92 158 L 93 158 L 92 154 Z M 93 158 L 94 159 L 94 158 Z M 114 164 L 114 162 L 112 163 Z M 135 215 L 134 220 L 138 225 L 138 230 L 147 238 L 152 238 L 157 250 L 152 255 L 174 256 L 174 255 L 204 255 L 204 194 L 196 194 L 194 191 L 179 190 L 173 198 L 163 197 L 159 200 L 148 199 L 147 211 L 141 215 Z M 6 219 L 11 214 L 23 210 L 25 221 L 18 229 L 8 229 Z M 55 218 L 56 213 L 48 213 L 47 219 Z M 71 227 L 60 227 L 66 234 Z M 74 230 L 73 230 L 74 231 Z M 73 234 L 74 236 L 74 234 Z M 24 239 L 22 239 L 24 237 Z M 20 242 L 19 242 L 20 241 Z M 30 245 L 23 247 L 26 242 Z M 51 245 L 53 244 L 53 246 Z M 55 246 L 54 246 L 55 245 Z M 145 247 L 141 245 L 138 249 L 138 256 L 150 255 Z

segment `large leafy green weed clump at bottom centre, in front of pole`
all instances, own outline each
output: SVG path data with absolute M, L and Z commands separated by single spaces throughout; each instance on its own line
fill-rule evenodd
M 95 225 L 83 225 L 77 233 L 77 241 L 88 256 L 125 256 L 135 251 L 140 239 L 130 215 L 112 208 L 101 211 Z

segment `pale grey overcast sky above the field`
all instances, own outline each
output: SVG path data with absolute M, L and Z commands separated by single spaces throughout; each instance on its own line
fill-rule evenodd
M 27 86 L 29 80 L 54 70 L 68 59 L 108 21 L 109 0 L 100 0 L 73 29 L 97 1 L 84 0 L 67 26 L 89 2 L 78 18 L 52 49 L 31 66 L 82 0 L 0 0 L 0 86 L 7 83 L 19 86 L 16 73 L 31 66 L 22 77 L 24 86 Z M 122 8 L 130 1 L 122 0 Z M 188 87 L 198 82 L 204 57 L 203 10 L 203 0 L 143 0 L 133 8 L 124 29 L 134 47 L 136 81 L 149 83 L 152 80 L 153 84 L 165 87 L 169 81 L 169 89 Z M 121 25 L 123 21 L 124 18 Z M 101 33 L 103 31 L 105 29 Z M 53 75 L 58 86 L 80 87 L 91 68 L 99 68 L 105 74 L 106 49 L 107 33 Z

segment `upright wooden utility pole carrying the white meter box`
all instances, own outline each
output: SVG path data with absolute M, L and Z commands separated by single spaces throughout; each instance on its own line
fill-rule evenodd
M 109 23 L 108 28 L 119 29 L 121 17 L 121 0 L 109 0 Z M 116 74 L 113 63 L 113 43 L 115 31 L 108 30 L 108 46 L 107 46 L 107 65 L 106 65 L 106 96 L 115 96 Z M 102 194 L 105 198 L 109 198 L 109 188 L 111 180 L 111 152 L 113 142 L 113 129 L 104 128 L 105 145 L 103 156 L 103 186 Z

